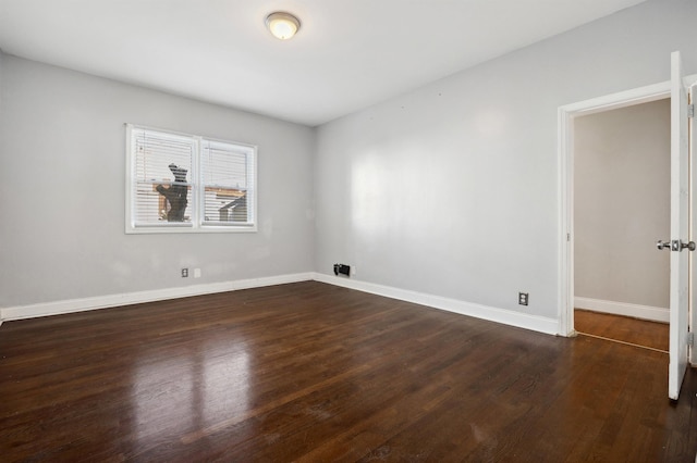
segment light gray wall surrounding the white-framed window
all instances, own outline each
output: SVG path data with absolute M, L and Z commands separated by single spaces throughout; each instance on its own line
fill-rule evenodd
M 314 129 L 1 60 L 0 306 L 313 270 Z M 126 236 L 124 123 L 257 145 L 259 232 Z

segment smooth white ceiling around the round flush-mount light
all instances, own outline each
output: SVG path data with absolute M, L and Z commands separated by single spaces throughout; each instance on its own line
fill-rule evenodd
M 643 1 L 0 0 L 0 49 L 316 126 Z

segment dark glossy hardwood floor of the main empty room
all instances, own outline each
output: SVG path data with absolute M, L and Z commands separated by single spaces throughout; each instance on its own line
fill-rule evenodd
M 695 462 L 697 372 L 307 281 L 0 327 L 0 460 Z

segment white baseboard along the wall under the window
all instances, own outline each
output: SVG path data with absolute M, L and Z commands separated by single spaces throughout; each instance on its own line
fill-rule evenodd
M 126 292 L 121 295 L 97 296 L 94 298 L 70 299 L 30 305 L 19 305 L 0 309 L 0 323 L 2 321 L 60 315 L 72 312 L 108 309 L 119 305 L 130 305 L 144 302 L 161 301 L 167 299 L 186 298 L 189 296 L 210 295 L 215 292 L 225 292 L 239 289 L 260 288 L 262 286 L 283 285 L 286 283 L 306 281 L 309 279 L 313 279 L 311 273 L 299 273 L 262 278 L 240 279 L 235 281 L 183 286 L 179 288 Z

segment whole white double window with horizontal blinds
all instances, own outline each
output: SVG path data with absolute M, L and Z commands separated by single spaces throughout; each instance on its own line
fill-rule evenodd
M 126 233 L 256 232 L 256 148 L 126 125 Z

